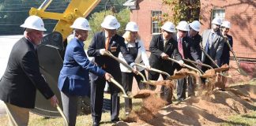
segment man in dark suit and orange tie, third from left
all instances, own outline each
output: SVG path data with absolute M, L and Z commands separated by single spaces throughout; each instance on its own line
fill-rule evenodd
M 102 67 L 106 72 L 111 73 L 115 80 L 121 83 L 122 76 L 119 62 L 115 61 L 111 57 L 104 56 L 104 51 L 109 50 L 115 57 L 118 57 L 119 52 L 121 52 L 122 56 L 130 66 L 134 65 L 134 59 L 132 55 L 128 53 L 122 36 L 116 34 L 116 29 L 120 27 L 120 24 L 114 16 L 108 15 L 105 17 L 101 27 L 104 31 L 96 33 L 92 38 L 92 43 L 88 46 L 88 56 L 95 57 L 95 63 Z M 133 72 L 137 72 L 137 70 L 134 69 Z M 92 120 L 93 125 L 99 125 L 106 81 L 92 74 L 91 82 Z M 111 121 L 115 123 L 116 121 L 119 121 L 119 88 L 116 87 L 114 83 L 110 83 L 109 87 L 111 91 Z

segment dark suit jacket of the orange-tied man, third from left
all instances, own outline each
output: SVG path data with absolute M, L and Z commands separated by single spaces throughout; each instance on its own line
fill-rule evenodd
M 100 49 L 105 48 L 105 41 L 106 37 L 104 31 L 96 33 L 92 38 L 92 42 L 88 46 L 87 54 L 89 57 L 95 57 L 94 60 L 96 64 L 107 72 L 111 73 L 112 76 L 115 78 L 117 76 L 121 77 L 119 62 L 115 61 L 111 57 L 100 55 Z M 116 34 L 111 37 L 109 45 L 110 46 L 108 46 L 107 50 L 111 51 L 111 54 L 113 54 L 115 57 L 118 57 L 119 53 L 121 52 L 128 65 L 134 62 L 133 57 L 126 49 L 126 44 L 124 43 L 122 36 Z M 97 80 L 97 78 L 97 76 L 92 74 L 93 80 Z

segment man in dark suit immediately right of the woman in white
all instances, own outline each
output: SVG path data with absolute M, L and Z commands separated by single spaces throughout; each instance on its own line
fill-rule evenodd
M 154 35 L 149 45 L 149 50 L 151 52 L 149 57 L 149 65 L 152 68 L 160 69 L 164 72 L 168 72 L 173 75 L 175 70 L 174 63 L 166 60 L 168 57 L 174 57 L 183 65 L 182 57 L 178 51 L 177 41 L 172 38 L 172 33 L 175 32 L 175 25 L 171 22 L 166 22 L 162 27 L 162 34 Z M 160 74 L 157 72 L 149 72 L 149 80 L 158 80 Z M 163 75 L 164 80 L 167 76 Z M 150 85 L 153 90 L 155 87 Z M 171 104 L 171 92 L 169 87 L 161 87 L 161 98 L 166 100 L 167 105 Z

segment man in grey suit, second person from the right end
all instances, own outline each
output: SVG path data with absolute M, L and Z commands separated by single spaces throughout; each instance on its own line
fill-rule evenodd
M 202 48 L 205 50 L 207 54 L 215 61 L 217 65 L 220 66 L 220 57 L 222 55 L 222 50 L 224 46 L 224 38 L 220 33 L 220 18 L 216 17 L 212 21 L 212 29 L 207 29 L 202 32 Z M 209 60 L 205 54 L 201 55 L 202 63 L 206 65 L 211 65 L 212 67 L 216 68 L 213 65 L 213 62 Z M 207 68 L 202 67 L 202 71 L 205 72 Z

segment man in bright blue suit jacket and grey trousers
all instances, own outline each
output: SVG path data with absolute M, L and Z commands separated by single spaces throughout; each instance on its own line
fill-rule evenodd
M 76 124 L 78 96 L 88 95 L 89 76 L 92 72 L 109 80 L 112 76 L 88 60 L 84 41 L 91 30 L 88 20 L 78 17 L 70 28 L 74 28 L 74 38 L 66 46 L 63 67 L 58 77 L 58 88 L 62 95 L 62 106 L 69 126 Z

